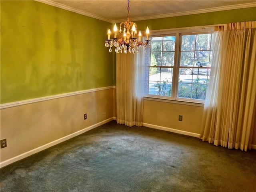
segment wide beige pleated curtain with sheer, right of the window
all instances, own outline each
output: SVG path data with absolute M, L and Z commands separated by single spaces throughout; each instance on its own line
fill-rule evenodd
M 256 131 L 256 22 L 220 27 L 215 42 L 200 138 L 247 151 Z

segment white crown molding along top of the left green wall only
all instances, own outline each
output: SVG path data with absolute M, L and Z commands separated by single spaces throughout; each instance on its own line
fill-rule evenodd
M 53 2 L 51 0 L 35 0 L 35 1 L 38 1 L 38 2 L 41 2 L 41 3 L 44 3 L 44 4 L 48 4 L 48 5 L 51 5 L 51 6 L 54 6 L 54 7 L 58 7 L 58 8 L 61 8 L 61 9 L 65 9 L 65 10 L 68 10 L 68 11 L 71 11 L 71 12 L 75 12 L 75 13 L 78 13 L 78 14 L 81 14 L 81 15 L 85 15 L 85 16 L 88 16 L 88 17 L 92 17 L 92 18 L 95 18 L 95 19 L 99 19 L 99 20 L 102 20 L 102 21 L 106 21 L 106 22 L 110 22 L 110 23 L 114 22 L 114 21 L 109 20 L 107 18 L 100 17 L 100 16 L 97 16 L 97 15 L 94 15 L 94 14 L 91 14 L 91 13 L 88 13 L 88 12 L 85 12 L 85 11 L 82 11 L 82 10 L 79 10 L 79 9 L 76 9 L 76 8 L 72 8 L 70 6 L 66 6 L 66 5 L 57 3 L 57 2 Z

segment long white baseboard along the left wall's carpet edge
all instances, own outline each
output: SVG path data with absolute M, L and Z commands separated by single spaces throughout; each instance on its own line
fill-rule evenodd
M 65 136 L 65 137 L 62 137 L 62 138 L 57 139 L 57 140 L 55 140 L 55 141 L 52 141 L 52 142 L 50 142 L 50 143 L 47 143 L 47 144 L 45 144 L 45 145 L 43 145 L 43 146 L 40 146 L 40 147 L 38 147 L 38 148 L 32 149 L 32 150 L 30 150 L 30 151 L 28 151 L 28 152 L 25 152 L 25 153 L 23 153 L 23 154 L 20 154 L 20 155 L 18 155 L 18 156 L 16 156 L 16 157 L 13 157 L 13 158 L 10 158 L 10 159 L 5 160 L 5 161 L 3 161 L 3 162 L 0 162 L 0 168 L 2 168 L 2 167 L 4 167 L 4 166 L 7 166 L 7 165 L 9 165 L 9 164 L 11 164 L 11 163 L 14 163 L 14 162 L 16 162 L 16 161 L 18 161 L 18 160 L 22 160 L 22 159 L 24 159 L 24 158 L 26 158 L 26 157 L 28 157 L 28 156 L 30 156 L 30 155 L 33 155 L 33 154 L 35 154 L 35 153 L 38 153 L 38 152 L 40 152 L 40 151 L 42 151 L 42 150 L 45 150 L 45 149 L 47 149 L 47 148 L 50 148 L 50 147 L 52 147 L 52 146 L 54 146 L 54 145 L 56 145 L 56 144 L 59 144 L 59 143 L 64 142 L 64 141 L 66 141 L 66 140 L 69 140 L 69 139 L 71 139 L 71 138 L 73 138 L 73 137 L 75 137 L 75 136 L 78 136 L 78 135 L 80 135 L 80 134 L 83 134 L 83 133 L 85 133 L 85 132 L 87 132 L 87 131 L 89 131 L 89 130 L 92 130 L 93 128 L 96 128 L 96 127 L 98 127 L 98 126 L 100 126 L 100 125 L 103 125 L 103 124 L 105 124 L 105 123 L 107 123 L 107 122 L 110 122 L 110 121 L 112 121 L 112 120 L 114 120 L 114 117 L 109 118 L 109 119 L 106 119 L 106 120 L 104 120 L 104 121 L 102 121 L 102 122 L 96 123 L 96 124 L 94 124 L 94 125 L 92 125 L 92 126 L 86 127 L 86 128 L 84 128 L 84 129 L 82 129 L 82 130 L 80 130 L 80 131 L 74 132 L 74 133 L 72 133 L 72 134 L 70 134 L 70 135 L 67 135 L 67 136 Z

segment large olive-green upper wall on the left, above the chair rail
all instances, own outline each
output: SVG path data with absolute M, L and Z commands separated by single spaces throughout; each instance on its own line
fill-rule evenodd
M 36 1 L 0 1 L 1 104 L 113 86 L 108 22 Z

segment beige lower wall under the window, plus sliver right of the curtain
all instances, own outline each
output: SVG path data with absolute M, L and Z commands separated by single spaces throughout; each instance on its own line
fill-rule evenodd
M 200 134 L 203 110 L 202 106 L 144 100 L 143 123 Z M 179 115 L 183 116 L 182 122 L 178 121 Z M 256 146 L 256 118 L 252 144 Z

